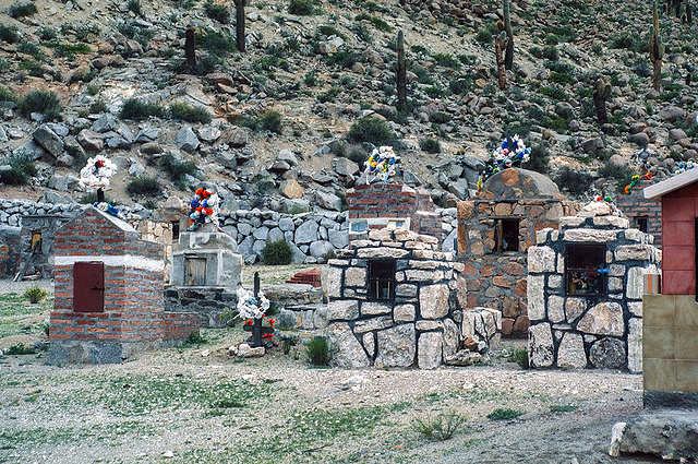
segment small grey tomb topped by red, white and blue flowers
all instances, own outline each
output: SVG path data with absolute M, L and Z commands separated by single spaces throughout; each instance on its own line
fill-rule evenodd
M 222 328 L 237 306 L 242 255 L 228 234 L 213 224 L 180 234 L 172 253 L 172 277 L 165 293 L 166 311 L 198 313 L 204 328 Z

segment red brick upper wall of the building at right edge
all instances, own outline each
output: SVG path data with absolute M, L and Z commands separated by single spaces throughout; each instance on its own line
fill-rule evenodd
M 696 293 L 698 185 L 662 197 L 662 294 Z

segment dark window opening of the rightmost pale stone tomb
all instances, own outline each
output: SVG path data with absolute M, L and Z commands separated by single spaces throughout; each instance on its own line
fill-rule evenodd
M 569 296 L 601 297 L 606 293 L 606 247 L 604 245 L 567 245 L 565 248 L 565 286 Z

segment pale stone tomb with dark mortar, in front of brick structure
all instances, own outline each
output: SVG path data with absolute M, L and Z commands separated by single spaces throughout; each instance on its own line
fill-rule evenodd
M 464 317 L 461 263 L 438 241 L 411 230 L 373 230 L 350 242 L 324 270 L 326 332 L 342 368 L 432 369 L 467 364 L 464 338 L 480 350 L 500 340 L 501 313 L 477 308 Z

